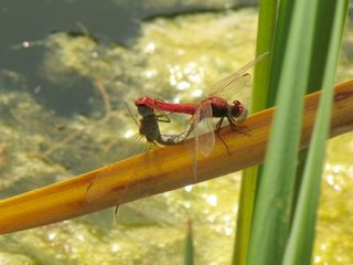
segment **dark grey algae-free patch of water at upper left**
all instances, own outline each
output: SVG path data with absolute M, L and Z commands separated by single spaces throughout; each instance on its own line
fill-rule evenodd
M 9 0 L 2 1 L 0 12 L 0 70 L 24 76 L 35 98 L 64 116 L 89 113 L 90 82 L 73 74 L 67 87 L 51 83 L 40 67 L 45 44 L 28 45 L 57 31 L 89 33 L 104 42 L 122 43 L 139 34 L 133 8 L 121 8 L 113 1 Z

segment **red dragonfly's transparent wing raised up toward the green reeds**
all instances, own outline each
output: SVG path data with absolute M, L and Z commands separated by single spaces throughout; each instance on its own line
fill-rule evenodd
M 222 94 L 234 86 L 236 86 L 242 80 L 248 80 L 250 75 L 246 73 L 250 67 L 253 67 L 255 64 L 264 60 L 268 55 L 268 52 L 263 53 L 258 55 L 255 60 L 244 65 L 242 68 L 233 73 L 232 75 L 225 77 L 224 80 L 221 80 L 220 83 L 216 85 L 216 88 L 211 93 L 212 95 L 215 94 Z

